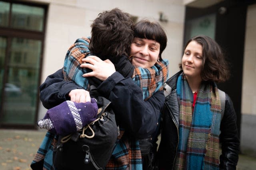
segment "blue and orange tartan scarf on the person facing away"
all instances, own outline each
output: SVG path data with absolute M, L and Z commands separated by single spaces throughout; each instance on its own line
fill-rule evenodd
M 86 69 L 80 68 L 82 59 L 90 55 L 88 49 L 90 37 L 77 39 L 71 45 L 66 53 L 63 74 L 65 80 L 72 80 L 83 88 L 88 88 L 89 82 L 87 78 L 82 77 L 86 73 Z M 155 64 L 151 68 L 134 67 L 132 80 L 142 89 L 144 100 L 150 98 L 152 94 L 163 89 L 163 84 L 168 78 L 169 61 L 164 59 Z M 140 170 L 142 169 L 142 157 L 138 140 L 126 137 L 125 131 L 121 131 L 118 136 L 116 146 L 108 162 L 106 169 L 111 170 Z M 53 170 L 53 148 L 56 145 L 57 135 L 50 132 L 46 133 L 34 160 L 32 166 L 36 166 L 38 162 L 44 161 L 43 170 Z

